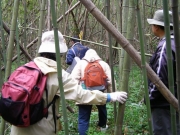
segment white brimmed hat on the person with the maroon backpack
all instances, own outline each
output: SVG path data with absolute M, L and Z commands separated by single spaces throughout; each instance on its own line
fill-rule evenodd
M 67 52 L 66 40 L 63 38 L 61 32 L 58 31 L 59 38 L 59 49 L 60 53 Z M 48 53 L 56 53 L 55 48 L 55 40 L 54 40 L 54 31 L 44 32 L 41 38 L 41 45 L 39 47 L 38 53 L 48 52 Z

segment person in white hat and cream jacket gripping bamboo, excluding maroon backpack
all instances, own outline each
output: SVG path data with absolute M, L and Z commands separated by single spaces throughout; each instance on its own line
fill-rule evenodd
M 59 52 L 61 56 L 67 52 L 66 41 L 58 31 L 59 39 Z M 40 56 L 34 58 L 34 63 L 41 70 L 41 72 L 47 76 L 47 81 L 45 88 L 47 93 L 44 91 L 43 99 L 44 106 L 54 101 L 56 97 L 55 104 L 50 104 L 48 107 L 48 115 L 43 117 L 36 123 L 29 125 L 27 127 L 19 127 L 16 125 L 11 126 L 10 135 L 56 135 L 59 131 L 59 120 L 58 120 L 58 110 L 60 103 L 60 90 L 57 75 L 57 63 L 56 63 L 56 49 L 54 40 L 54 31 L 44 32 L 41 39 L 41 45 L 39 47 L 38 53 Z M 65 99 L 73 100 L 78 103 L 84 104 L 99 104 L 103 105 L 106 102 L 120 102 L 124 103 L 127 99 L 126 92 L 114 92 L 110 94 L 102 93 L 98 90 L 86 91 L 77 81 L 72 78 L 72 76 L 62 69 L 62 83 L 64 88 Z M 34 88 L 34 90 L 36 90 Z M 37 89 L 38 90 L 38 89 Z M 54 105 L 54 106 L 53 106 Z M 55 114 L 53 114 L 53 108 L 55 108 Z M 18 110 L 18 108 L 16 108 Z M 1 112 L 0 112 L 1 113 Z M 54 117 L 54 115 L 56 117 Z M 54 119 L 55 118 L 55 119 Z M 55 120 L 55 122 L 54 122 Z M 56 124 L 55 124 L 56 123 Z M 56 132 L 57 131 L 57 132 Z

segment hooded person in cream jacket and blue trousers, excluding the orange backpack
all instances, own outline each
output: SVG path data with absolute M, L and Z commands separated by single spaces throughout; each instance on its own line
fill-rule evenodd
M 104 62 L 96 53 L 95 50 L 89 49 L 83 59 L 77 63 L 74 70 L 72 71 L 71 75 L 77 80 L 77 83 L 80 82 L 80 85 L 84 87 L 84 81 L 82 80 L 85 75 L 85 69 L 89 62 L 95 62 L 98 61 L 102 69 L 104 70 L 105 75 L 107 76 L 107 89 L 101 90 L 101 92 L 112 92 L 111 87 L 111 70 L 109 65 Z M 93 74 L 93 73 L 92 73 Z M 97 73 L 98 74 L 98 73 Z M 95 75 L 95 73 L 94 73 Z M 88 81 L 88 80 L 87 80 Z M 95 87 L 94 87 L 95 88 Z M 96 87 L 98 88 L 98 87 Z M 100 87 L 99 87 L 100 88 Z M 85 86 L 85 89 L 88 89 L 87 86 Z M 88 90 L 90 91 L 90 90 Z M 78 103 L 77 103 L 78 104 Z M 90 120 L 90 114 L 92 105 L 87 104 L 78 104 L 79 108 L 79 114 L 78 114 L 78 128 L 79 128 L 79 134 L 80 135 L 86 135 L 86 132 L 89 127 L 89 120 Z M 99 113 L 99 121 L 97 125 L 100 127 L 102 131 L 106 130 L 108 128 L 107 124 L 107 110 L 106 110 L 106 104 L 105 105 L 97 105 L 98 113 Z

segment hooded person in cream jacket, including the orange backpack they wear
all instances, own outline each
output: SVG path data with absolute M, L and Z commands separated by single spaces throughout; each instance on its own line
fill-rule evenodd
M 111 70 L 95 50 L 89 49 L 81 61 L 77 63 L 71 75 L 87 91 L 99 90 L 112 92 Z M 92 105 L 78 104 L 78 130 L 80 135 L 86 135 L 89 127 Z M 101 131 L 108 128 L 106 104 L 96 105 L 98 108 L 98 126 Z

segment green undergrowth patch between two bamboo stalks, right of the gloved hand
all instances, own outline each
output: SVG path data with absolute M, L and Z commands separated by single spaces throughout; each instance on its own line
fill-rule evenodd
M 126 134 L 148 134 L 147 110 L 143 98 L 142 73 L 137 66 L 132 66 L 123 126 Z

